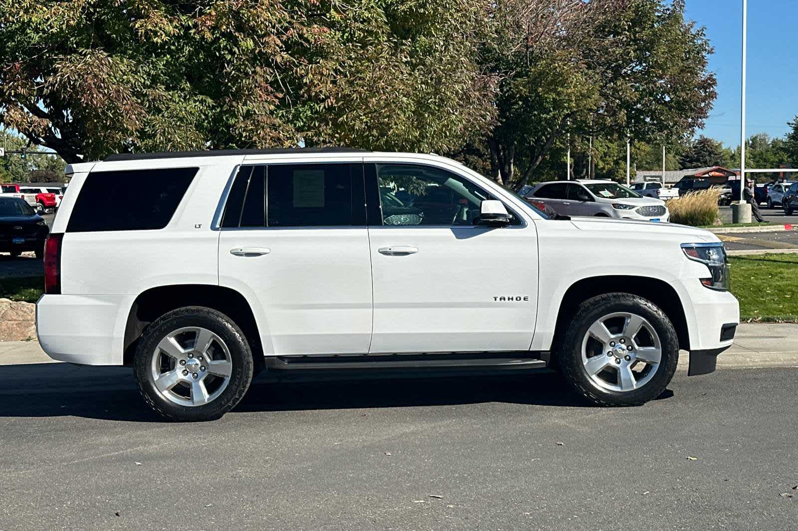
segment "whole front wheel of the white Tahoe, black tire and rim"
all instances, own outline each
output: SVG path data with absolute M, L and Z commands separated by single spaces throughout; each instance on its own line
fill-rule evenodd
M 593 335 L 599 323 L 606 342 Z M 624 331 L 629 323 L 640 326 Z M 654 363 L 657 345 L 660 356 Z M 559 352 L 569 386 L 600 406 L 639 406 L 657 398 L 674 377 L 678 360 L 679 340 L 670 319 L 652 302 L 630 293 L 606 293 L 579 305 Z

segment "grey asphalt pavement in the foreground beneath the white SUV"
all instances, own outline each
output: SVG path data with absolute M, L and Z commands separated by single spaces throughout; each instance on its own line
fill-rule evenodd
M 680 371 L 621 409 L 551 375 L 260 379 L 180 424 L 124 368 L 5 366 L 0 529 L 788 529 L 796 377 Z

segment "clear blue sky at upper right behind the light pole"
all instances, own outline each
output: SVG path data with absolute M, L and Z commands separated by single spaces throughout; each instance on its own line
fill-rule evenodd
M 699 134 L 740 144 L 742 0 L 686 0 L 686 15 L 706 27 L 715 47 L 709 69 L 717 75 L 717 100 Z M 749 0 L 748 101 L 745 132 L 783 136 L 798 115 L 796 0 Z

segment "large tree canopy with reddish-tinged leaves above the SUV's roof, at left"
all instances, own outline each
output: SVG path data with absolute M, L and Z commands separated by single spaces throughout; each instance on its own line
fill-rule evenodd
M 68 162 L 351 144 L 456 151 L 492 120 L 487 0 L 0 0 L 0 122 Z

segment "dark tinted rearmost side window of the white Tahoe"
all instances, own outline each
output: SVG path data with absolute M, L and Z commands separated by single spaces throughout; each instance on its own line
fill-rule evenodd
M 198 170 L 178 167 L 93 171 L 81 187 L 66 230 L 163 229 Z

